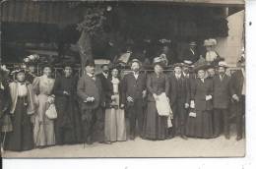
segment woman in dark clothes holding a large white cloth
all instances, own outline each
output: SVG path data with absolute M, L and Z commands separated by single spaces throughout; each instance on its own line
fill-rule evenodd
M 147 80 L 148 106 L 145 115 L 144 138 L 149 140 L 164 140 L 167 131 L 167 117 L 160 116 L 157 111 L 156 100 L 158 96 L 169 91 L 169 82 L 166 75 L 163 74 L 164 64 L 154 61 L 155 73 L 149 75 Z

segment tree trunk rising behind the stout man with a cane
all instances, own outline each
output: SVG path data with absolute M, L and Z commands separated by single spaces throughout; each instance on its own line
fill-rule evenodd
M 79 54 L 81 59 L 82 73 L 84 73 L 87 60 L 94 59 L 93 53 L 92 53 L 91 34 L 86 31 L 83 31 L 78 40 L 78 46 L 79 46 Z

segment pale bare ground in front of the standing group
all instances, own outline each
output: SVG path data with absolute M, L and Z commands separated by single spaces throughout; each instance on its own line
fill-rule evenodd
M 236 141 L 235 136 L 225 140 L 202 140 L 176 137 L 167 141 L 114 142 L 112 144 L 94 143 L 52 146 L 24 152 L 5 151 L 3 157 L 225 157 L 244 156 L 245 140 Z

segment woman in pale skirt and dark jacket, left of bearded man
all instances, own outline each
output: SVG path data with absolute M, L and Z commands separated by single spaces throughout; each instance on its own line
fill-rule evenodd
M 111 97 L 106 98 L 105 110 L 105 141 L 126 141 L 126 125 L 124 110 L 120 109 L 120 80 L 119 71 L 116 67 L 112 68 L 112 77 L 109 80 Z

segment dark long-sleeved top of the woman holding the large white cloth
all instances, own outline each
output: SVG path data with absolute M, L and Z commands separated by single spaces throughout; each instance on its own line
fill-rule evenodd
M 153 94 L 160 94 L 165 92 L 166 95 L 169 93 L 169 80 L 165 74 L 160 74 L 160 77 L 157 77 L 156 73 L 153 73 L 148 76 L 147 88 L 149 91 L 148 101 L 155 101 Z

